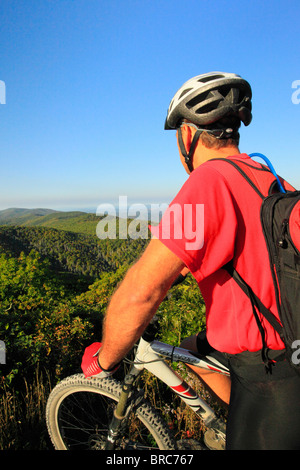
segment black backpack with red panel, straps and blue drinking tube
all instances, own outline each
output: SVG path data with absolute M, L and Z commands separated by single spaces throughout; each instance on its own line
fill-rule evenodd
M 272 194 L 269 192 L 270 195 L 267 197 L 261 194 L 239 165 L 232 160 L 222 160 L 233 165 L 263 199 L 260 220 L 269 253 L 270 268 L 281 324 L 235 270 L 232 262 L 228 263 L 224 268 L 235 279 L 251 301 L 253 313 L 262 336 L 262 359 L 267 370 L 271 371 L 273 361 L 268 356 L 264 329 L 257 311 L 278 332 L 285 344 L 285 358 L 300 373 L 300 191 L 286 192 L 271 162 L 262 154 L 250 155 L 250 157 L 254 156 L 263 158 L 267 162 L 270 171 L 276 177 L 275 185 L 272 184 L 272 186 L 273 191 L 275 186 L 277 186 L 277 190 Z

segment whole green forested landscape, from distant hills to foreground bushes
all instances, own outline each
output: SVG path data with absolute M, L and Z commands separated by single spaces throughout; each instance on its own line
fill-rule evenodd
M 111 295 L 150 238 L 99 239 L 96 227 L 108 219 L 82 212 L 11 210 L 0 216 L 0 341 L 6 354 L 0 361 L 0 449 L 52 449 L 45 423 L 49 392 L 81 372 L 85 347 L 101 340 Z M 125 230 L 124 220 L 116 225 L 120 221 Z M 136 222 L 127 222 L 128 233 Z M 203 329 L 204 308 L 193 278 L 174 287 L 157 313 L 161 341 L 178 345 Z M 144 388 L 151 390 L 145 377 Z M 179 410 L 165 390 L 155 400 L 159 396 Z M 179 413 L 174 419 L 194 433 Z

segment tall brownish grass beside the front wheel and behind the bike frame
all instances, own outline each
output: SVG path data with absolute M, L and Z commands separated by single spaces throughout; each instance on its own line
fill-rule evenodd
M 179 373 L 208 404 L 218 407 L 185 366 L 180 366 Z M 150 403 L 164 416 L 176 439 L 201 439 L 205 431 L 203 423 L 170 389 L 147 371 L 140 385 Z M 47 372 L 39 370 L 32 383 L 24 380 L 22 391 L 12 392 L 3 388 L 0 396 L 0 450 L 53 450 L 45 420 L 51 388 Z

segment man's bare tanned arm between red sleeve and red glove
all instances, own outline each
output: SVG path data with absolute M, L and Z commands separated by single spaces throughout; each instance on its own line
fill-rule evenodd
M 184 263 L 157 239 L 114 293 L 104 321 L 99 363 L 111 369 L 140 338 Z

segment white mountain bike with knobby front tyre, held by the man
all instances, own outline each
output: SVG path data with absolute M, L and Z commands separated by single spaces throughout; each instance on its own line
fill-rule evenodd
M 207 450 L 225 449 L 225 423 L 208 403 L 171 367 L 183 362 L 229 375 L 216 359 L 201 356 L 156 339 L 155 318 L 139 340 L 128 372 L 86 379 L 75 374 L 58 383 L 49 395 L 46 422 L 57 450 Z M 203 421 L 203 442 L 176 440 L 161 413 L 150 405 L 137 386 L 146 369 L 164 382 Z M 207 434 L 208 433 L 208 434 Z M 213 441 L 213 447 L 207 442 Z

